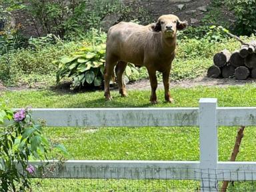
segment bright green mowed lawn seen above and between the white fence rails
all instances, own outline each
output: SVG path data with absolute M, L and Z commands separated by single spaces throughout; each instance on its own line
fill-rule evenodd
M 223 88 L 174 88 L 171 89 L 175 99 L 173 104 L 163 102 L 163 90 L 157 91 L 159 96 L 157 105 L 149 103 L 150 91 L 129 91 L 127 98 L 119 97 L 117 91 L 112 91 L 112 93 L 114 101 L 105 102 L 103 91 L 88 93 L 59 93 L 49 90 L 6 91 L 1 93 L 1 101 L 6 101 L 9 107 L 30 105 L 34 108 L 197 107 L 199 98 L 216 97 L 218 105 L 221 107 L 256 106 L 255 84 Z M 245 128 L 245 137 L 237 161 L 256 161 L 255 128 Z M 219 161 L 228 161 L 235 142 L 237 127 L 219 127 L 218 130 Z M 71 154 L 69 159 L 199 160 L 198 127 L 99 127 L 97 129 L 92 127 L 45 127 L 44 131 L 52 142 L 63 143 L 67 147 Z M 57 187 L 50 185 L 54 182 L 57 183 L 55 185 Z M 54 182 L 43 181 L 43 186 L 50 185 L 50 187 L 49 190 L 46 188 L 42 190 L 69 191 L 72 187 L 68 186 L 75 186 L 75 183 L 77 183 L 77 188 L 75 188 L 77 191 L 87 191 L 87 189 L 88 191 L 109 191 L 110 189 L 113 191 L 167 191 L 168 186 L 168 189 L 171 190 L 173 187 L 177 187 L 177 190 L 173 189 L 173 191 L 189 191 L 188 187 L 190 186 L 191 191 L 194 191 L 199 185 L 197 181 L 70 180 L 66 182 L 55 180 Z M 126 184 L 122 184 L 122 182 L 126 182 Z M 84 185 L 91 187 L 87 186 L 86 188 L 83 187 Z M 150 187 L 152 185 L 153 187 Z M 125 188 L 125 186 L 128 187 Z

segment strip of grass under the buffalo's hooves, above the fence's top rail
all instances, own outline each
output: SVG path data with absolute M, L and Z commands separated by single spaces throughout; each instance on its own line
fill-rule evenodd
M 111 91 L 113 101 L 105 101 L 103 91 L 86 93 L 65 93 L 51 90 L 4 91 L 0 92 L 0 102 L 5 101 L 9 107 L 34 108 L 83 108 L 83 107 L 198 107 L 202 97 L 218 99 L 219 107 L 256 106 L 256 84 L 229 87 L 193 87 L 172 88 L 171 95 L 175 103 L 165 103 L 164 91 L 158 90 L 159 103 L 149 103 L 150 91 L 128 90 L 129 97 L 119 96 Z

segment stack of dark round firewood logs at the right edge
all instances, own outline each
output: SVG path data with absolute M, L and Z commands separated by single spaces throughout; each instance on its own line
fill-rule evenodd
M 245 80 L 256 79 L 256 41 L 243 44 L 240 50 L 230 53 L 227 49 L 213 57 L 214 65 L 209 67 L 207 77 Z

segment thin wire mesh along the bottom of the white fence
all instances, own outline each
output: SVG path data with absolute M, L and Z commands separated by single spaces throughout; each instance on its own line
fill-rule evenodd
M 256 191 L 256 183 L 254 181 L 256 180 L 254 179 L 255 171 L 219 171 L 185 168 L 160 170 L 159 168 L 127 167 L 125 168 L 127 169 L 127 173 L 133 171 L 135 174 L 113 174 L 111 178 L 108 173 L 103 171 L 103 168 L 91 169 L 91 175 L 88 175 L 88 169 L 91 168 L 79 169 L 79 171 L 84 173 L 85 177 L 81 177 L 81 173 L 79 173 L 79 178 L 70 179 L 67 177 L 67 174 L 62 172 L 62 175 L 53 174 L 51 178 L 33 179 L 32 191 L 221 191 L 223 179 L 226 181 L 229 179 L 235 180 L 229 181 L 226 191 Z M 111 167 L 111 170 L 114 169 L 116 173 L 119 173 L 119 171 L 117 171 L 119 167 Z M 125 169 L 122 168 L 121 172 L 125 171 Z M 69 167 L 67 171 L 72 173 L 73 171 L 78 171 L 78 169 Z M 138 175 L 138 171 L 143 173 L 145 177 Z M 159 174 L 155 174 L 155 171 Z M 104 173 L 106 178 L 104 178 L 100 172 Z M 98 178 L 95 173 L 99 173 Z M 149 177 L 150 174 L 148 173 L 152 173 L 151 177 Z M 169 173 L 173 173 L 173 179 L 171 179 Z M 234 177 L 234 175 L 237 175 L 237 177 Z M 129 179 L 125 178 L 126 176 Z M 249 179 L 250 176 L 251 181 Z M 49 177 L 49 175 L 47 177 Z M 71 177 L 73 176 L 71 175 Z M 215 183 L 215 187 L 212 187 L 214 186 L 213 183 Z

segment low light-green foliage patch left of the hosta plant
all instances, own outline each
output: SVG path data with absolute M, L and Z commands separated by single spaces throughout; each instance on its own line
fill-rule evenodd
M 23 74 L 51 75 L 56 73 L 58 66 L 54 65 L 53 61 L 61 55 L 78 50 L 82 45 L 81 42 L 48 44 L 46 47 L 20 49 L 8 55 L 5 54 L 0 57 L 0 79 L 4 82 L 10 82 L 19 80 Z M 5 59 L 6 57 L 8 60 Z M 9 71 L 8 76 L 5 72 L 7 70 Z

